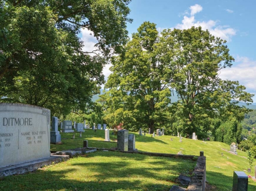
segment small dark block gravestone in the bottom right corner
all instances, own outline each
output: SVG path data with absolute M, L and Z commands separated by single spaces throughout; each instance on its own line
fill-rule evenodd
M 247 191 L 247 190 L 248 190 L 248 176 L 245 174 L 245 172 L 234 171 L 232 191 Z

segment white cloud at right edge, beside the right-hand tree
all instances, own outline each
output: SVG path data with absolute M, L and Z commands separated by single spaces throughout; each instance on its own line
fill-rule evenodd
M 256 60 L 250 60 L 248 57 L 236 57 L 236 63 L 231 68 L 222 69 L 220 73 L 221 79 L 228 79 L 239 81 L 239 83 L 246 87 L 249 93 L 256 92 Z M 254 96 L 256 102 L 256 96 Z

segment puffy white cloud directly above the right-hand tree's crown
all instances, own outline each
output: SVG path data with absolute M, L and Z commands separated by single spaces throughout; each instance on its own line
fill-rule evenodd
M 184 16 L 182 23 L 179 23 L 175 26 L 177 29 L 189 29 L 192 26 L 199 27 L 201 26 L 203 30 L 209 30 L 210 33 L 216 37 L 220 37 L 226 41 L 231 41 L 231 37 L 236 34 L 236 30 L 230 28 L 229 26 L 220 26 L 218 25 L 219 21 L 196 21 L 195 14 L 202 11 L 203 7 L 198 4 L 195 4 L 190 7 L 191 16 Z

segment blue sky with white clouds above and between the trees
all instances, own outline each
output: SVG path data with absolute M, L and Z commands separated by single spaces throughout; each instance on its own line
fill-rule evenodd
M 246 91 L 256 94 L 256 1 L 242 0 L 132 0 L 128 23 L 129 34 L 135 33 L 144 22 L 157 24 L 159 30 L 166 28 L 188 29 L 202 26 L 211 34 L 227 41 L 230 54 L 235 58 L 233 66 L 222 70 L 222 79 L 238 80 Z M 82 30 L 84 42 L 93 41 L 89 32 Z M 85 49 L 93 48 L 87 43 Z M 109 65 L 103 73 L 110 74 Z M 256 102 L 256 96 L 254 96 Z

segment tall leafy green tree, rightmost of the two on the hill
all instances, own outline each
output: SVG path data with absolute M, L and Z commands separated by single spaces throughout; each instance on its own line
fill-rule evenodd
M 240 109 L 236 101 L 252 102 L 253 95 L 246 93 L 244 86 L 218 76 L 234 61 L 226 41 L 201 27 L 164 30 L 162 38 L 173 64 L 171 86 L 180 97 L 176 114 L 183 122 L 181 131 L 206 132 L 213 118 Z

